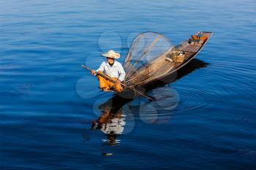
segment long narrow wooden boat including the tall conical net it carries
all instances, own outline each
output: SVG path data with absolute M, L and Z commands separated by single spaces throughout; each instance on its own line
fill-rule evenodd
M 200 31 L 179 45 L 156 32 L 145 32 L 135 37 L 123 66 L 126 72 L 122 93 L 130 88 L 146 85 L 173 74 L 185 66 L 202 50 L 211 32 Z

